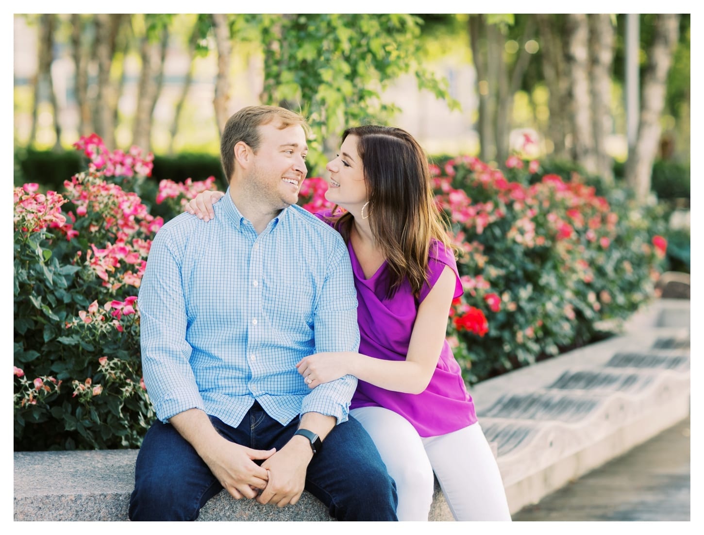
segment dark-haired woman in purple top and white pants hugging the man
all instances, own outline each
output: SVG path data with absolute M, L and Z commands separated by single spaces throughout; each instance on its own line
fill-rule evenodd
M 424 151 L 399 128 L 348 128 L 327 164 L 325 197 L 346 213 L 317 214 L 347 243 L 358 297 L 358 353 L 298 363 L 308 386 L 353 374 L 350 414 L 396 481 L 399 520 L 427 520 L 436 474 L 455 520 L 510 520 L 501 474 L 445 339 L 462 284 L 436 208 Z M 209 219 L 206 192 L 187 211 Z M 212 217 L 210 210 L 210 217 Z

